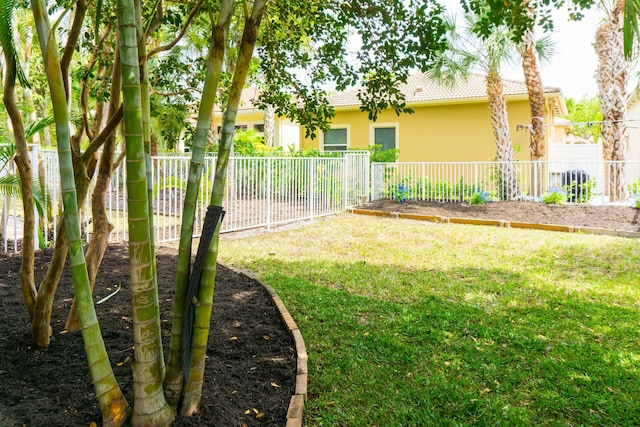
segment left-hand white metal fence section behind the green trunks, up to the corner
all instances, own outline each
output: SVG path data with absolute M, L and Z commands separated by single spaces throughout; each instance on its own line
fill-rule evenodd
M 40 241 L 50 244 L 60 221 L 59 171 L 57 153 L 41 150 L 32 164 L 41 166 L 46 183 L 46 221 L 39 219 Z M 180 237 L 182 206 L 189 172 L 188 156 L 152 158 L 153 210 L 156 242 Z M 209 202 L 215 157 L 207 157 L 198 195 L 194 235 L 199 236 Z M 369 153 L 348 152 L 342 157 L 235 157 L 230 161 L 226 197 L 227 211 L 222 232 L 271 227 L 343 212 L 360 203 L 368 193 Z M 92 190 L 92 189 L 91 189 Z M 90 192 L 91 192 L 90 190 Z M 5 197 L 3 204 L 2 249 L 19 251 L 22 238 L 19 199 Z M 127 239 L 127 194 L 124 164 L 113 173 L 106 194 L 109 221 L 114 229 L 111 241 Z M 82 212 L 83 238 L 90 240 L 90 196 Z M 4 214 L 6 212 L 6 214 Z M 45 225 L 46 224 L 46 225 Z

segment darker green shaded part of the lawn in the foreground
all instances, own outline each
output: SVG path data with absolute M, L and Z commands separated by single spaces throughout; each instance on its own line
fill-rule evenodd
M 255 262 L 307 342 L 311 425 L 640 420 L 637 301 L 501 269 Z

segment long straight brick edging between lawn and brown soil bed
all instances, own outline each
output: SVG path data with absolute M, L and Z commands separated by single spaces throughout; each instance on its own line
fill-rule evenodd
M 358 215 L 381 216 L 381 217 L 387 217 L 387 218 L 415 219 L 418 221 L 440 222 L 440 223 L 446 223 L 446 224 L 493 225 L 497 227 L 506 227 L 506 228 L 531 228 L 534 230 L 563 231 L 565 233 L 584 233 L 584 234 L 599 234 L 599 235 L 605 235 L 605 236 L 640 238 L 640 233 L 635 231 L 607 230 L 605 228 L 577 227 L 572 225 L 535 224 L 530 222 L 502 221 L 502 220 L 494 220 L 494 219 L 456 218 L 456 217 L 446 217 L 446 216 L 438 216 L 438 215 L 406 214 L 401 212 L 374 211 L 369 209 L 357 209 L 357 208 L 351 208 L 351 209 L 348 209 L 347 211 L 350 213 L 358 214 Z

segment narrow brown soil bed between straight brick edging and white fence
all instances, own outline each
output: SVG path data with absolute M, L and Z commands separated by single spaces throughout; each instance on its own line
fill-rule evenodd
M 518 221 L 537 224 L 568 225 L 640 232 L 640 210 L 630 206 L 565 204 L 534 202 L 491 202 L 484 205 L 376 200 L 358 206 L 385 212 L 401 212 L 447 218 L 474 218 Z

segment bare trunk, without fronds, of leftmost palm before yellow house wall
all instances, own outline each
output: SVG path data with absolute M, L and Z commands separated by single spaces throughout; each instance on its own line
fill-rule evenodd
M 493 136 L 496 141 L 498 192 L 502 200 L 511 200 L 518 196 L 520 191 L 511 145 L 507 103 L 504 99 L 502 79 L 499 75 L 487 74 L 487 97 L 491 111 Z

